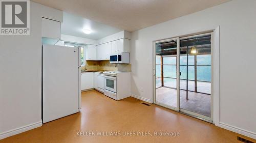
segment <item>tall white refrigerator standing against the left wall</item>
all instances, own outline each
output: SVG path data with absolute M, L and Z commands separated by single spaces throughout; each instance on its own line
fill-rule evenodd
M 77 47 L 42 46 L 42 122 L 78 112 L 80 99 Z

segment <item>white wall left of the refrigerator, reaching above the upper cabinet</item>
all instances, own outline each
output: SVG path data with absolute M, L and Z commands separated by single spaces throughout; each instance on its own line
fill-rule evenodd
M 41 17 L 62 12 L 30 1 L 30 36 L 0 36 L 0 139 L 41 126 Z

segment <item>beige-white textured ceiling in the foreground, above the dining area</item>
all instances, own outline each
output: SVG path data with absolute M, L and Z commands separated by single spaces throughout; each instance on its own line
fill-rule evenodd
M 126 31 L 136 31 L 229 0 L 32 0 Z

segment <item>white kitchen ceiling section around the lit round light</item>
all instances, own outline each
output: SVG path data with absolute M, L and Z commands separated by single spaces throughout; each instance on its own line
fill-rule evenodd
M 91 30 L 91 34 L 84 34 L 83 29 Z M 63 13 L 63 23 L 61 23 L 61 34 L 67 34 L 77 37 L 90 38 L 94 40 L 112 35 L 122 30 L 92 21 L 70 13 Z

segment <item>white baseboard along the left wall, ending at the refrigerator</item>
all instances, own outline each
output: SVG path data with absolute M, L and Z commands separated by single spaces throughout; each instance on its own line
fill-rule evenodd
M 42 126 L 42 121 L 30 124 L 30 125 L 26 125 L 23 127 L 19 127 L 19 128 L 13 129 L 13 130 L 9 130 L 7 132 L 0 133 L 0 139 L 4 139 L 6 137 L 9 137 L 9 136 L 12 136 L 15 134 L 19 134 L 19 133 L 22 133 L 22 132 L 25 132 L 28 130 L 32 130 L 32 129 L 40 127 L 40 126 Z

